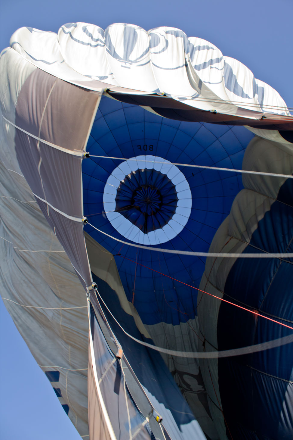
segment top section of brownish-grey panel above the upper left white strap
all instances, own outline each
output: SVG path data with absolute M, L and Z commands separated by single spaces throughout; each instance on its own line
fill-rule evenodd
M 15 123 L 54 145 L 81 151 L 99 98 L 97 92 L 84 90 L 36 69 L 18 96 Z

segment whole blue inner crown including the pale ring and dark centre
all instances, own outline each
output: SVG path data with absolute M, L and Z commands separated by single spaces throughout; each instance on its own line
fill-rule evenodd
M 83 160 L 84 215 L 90 224 L 123 241 L 208 252 L 242 189 L 241 176 L 151 162 L 239 169 L 252 138 L 244 127 L 174 121 L 103 96 L 87 151 L 124 159 Z M 123 164 L 130 158 L 132 170 L 128 166 L 126 174 Z M 205 258 L 130 247 L 89 225 L 85 231 L 115 256 L 127 298 L 143 323 L 177 325 L 196 315 L 196 290 L 174 279 L 199 287 Z M 162 283 L 158 272 L 174 279 L 163 277 Z

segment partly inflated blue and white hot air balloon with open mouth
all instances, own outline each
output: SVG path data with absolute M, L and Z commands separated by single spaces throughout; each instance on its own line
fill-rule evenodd
M 1 295 L 82 438 L 291 439 L 293 117 L 179 29 L 0 55 Z

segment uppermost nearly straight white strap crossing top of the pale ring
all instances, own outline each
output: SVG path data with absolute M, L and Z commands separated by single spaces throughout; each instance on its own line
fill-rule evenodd
M 293 176 L 291 174 L 278 174 L 275 172 L 251 171 L 251 170 L 246 170 L 246 169 L 234 169 L 234 168 L 222 168 L 222 167 L 206 166 L 206 165 L 181 164 L 178 162 L 149 161 L 149 160 L 145 160 L 145 159 L 132 159 L 132 158 L 126 159 L 126 158 L 116 158 L 116 157 L 112 157 L 112 156 L 98 156 L 98 155 L 92 155 L 92 154 L 90 154 L 90 158 L 115 159 L 115 160 L 119 160 L 119 161 L 133 161 L 133 162 L 146 162 L 146 163 L 162 164 L 162 165 L 187 166 L 187 167 L 191 167 L 191 168 L 210 169 L 210 170 L 214 170 L 214 171 L 240 172 L 241 174 L 257 174 L 258 176 L 285 177 L 286 179 L 293 179 Z

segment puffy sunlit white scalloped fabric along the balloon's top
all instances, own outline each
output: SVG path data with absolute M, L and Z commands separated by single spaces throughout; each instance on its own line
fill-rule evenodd
M 67 23 L 58 36 L 18 29 L 10 45 L 40 69 L 85 88 L 166 94 L 197 109 L 252 119 L 263 113 L 289 115 L 279 93 L 241 62 L 180 29 L 147 33 L 115 23 L 104 32 L 88 23 Z

